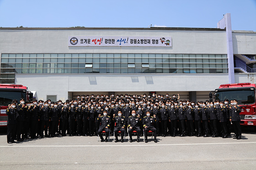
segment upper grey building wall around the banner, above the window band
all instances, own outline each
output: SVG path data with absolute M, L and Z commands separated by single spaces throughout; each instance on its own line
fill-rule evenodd
M 172 47 L 68 46 L 68 36 L 171 36 Z M 8 40 L 8 41 L 6 41 Z M 1 30 L 1 53 L 226 54 L 225 31 L 185 30 Z

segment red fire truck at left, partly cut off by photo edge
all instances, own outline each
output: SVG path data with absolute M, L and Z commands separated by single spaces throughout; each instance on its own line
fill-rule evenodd
M 25 100 L 33 98 L 33 93 L 27 91 L 26 86 L 19 84 L 0 84 L 0 127 L 7 126 L 8 117 L 6 109 L 13 99 L 18 103 L 21 98 Z

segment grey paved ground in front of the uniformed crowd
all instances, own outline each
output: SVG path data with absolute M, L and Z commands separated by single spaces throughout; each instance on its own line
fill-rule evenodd
M 0 133 L 1 170 L 77 169 L 256 169 L 256 133 L 244 129 L 241 140 L 232 138 L 158 137 L 155 144 L 97 142 L 97 137 L 29 139 L 7 144 Z M 133 137 L 135 139 L 135 137 Z M 128 139 L 126 138 L 126 141 Z

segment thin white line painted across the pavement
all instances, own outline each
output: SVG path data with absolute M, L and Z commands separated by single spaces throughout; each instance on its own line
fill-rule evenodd
M 202 144 L 136 144 L 136 145 L 9 145 L 5 147 L 123 147 L 123 146 L 178 146 L 178 145 L 203 145 L 203 144 L 256 144 L 256 142 L 230 142 L 230 143 L 202 143 Z

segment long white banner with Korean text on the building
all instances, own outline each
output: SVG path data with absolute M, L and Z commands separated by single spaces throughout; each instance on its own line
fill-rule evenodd
M 69 46 L 165 46 L 171 36 L 69 36 Z

